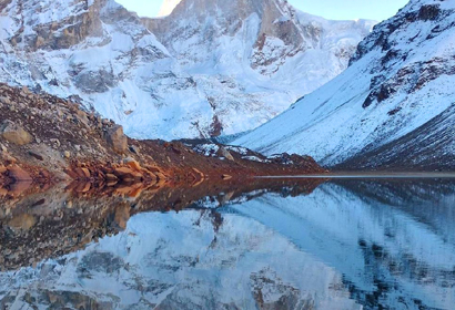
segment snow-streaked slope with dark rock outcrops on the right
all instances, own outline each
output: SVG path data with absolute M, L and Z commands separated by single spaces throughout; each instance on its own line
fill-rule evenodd
M 453 168 L 454 23 L 454 1 L 412 0 L 346 71 L 234 143 L 325 165 Z

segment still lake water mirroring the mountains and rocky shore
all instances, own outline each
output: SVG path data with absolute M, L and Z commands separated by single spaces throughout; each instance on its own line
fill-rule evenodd
M 195 192 L 14 202 L 0 309 L 455 309 L 455 180 Z

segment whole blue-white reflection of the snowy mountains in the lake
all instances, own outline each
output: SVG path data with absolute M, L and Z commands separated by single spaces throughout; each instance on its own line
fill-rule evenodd
M 451 309 L 453 186 L 410 185 L 398 197 L 372 185 L 387 204 L 346 188 L 263 190 L 218 210 L 140 214 L 84 250 L 0 273 L 0 300 L 11 309 L 51 300 L 102 309 Z

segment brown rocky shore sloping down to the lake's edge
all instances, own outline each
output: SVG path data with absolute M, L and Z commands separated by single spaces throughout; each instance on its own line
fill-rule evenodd
M 77 99 L 0 84 L 0 195 L 47 189 L 61 180 L 79 190 L 115 184 L 200 184 L 259 175 L 323 173 L 311 157 L 261 154 L 219 144 L 136 141 Z

